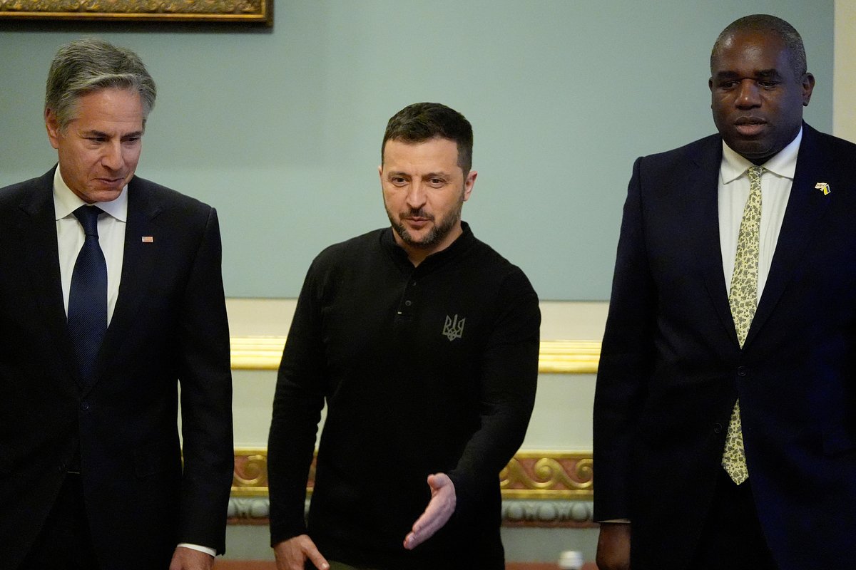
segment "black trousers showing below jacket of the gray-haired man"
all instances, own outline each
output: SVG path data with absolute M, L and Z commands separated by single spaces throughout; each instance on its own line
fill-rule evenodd
M 68 473 L 20 570 L 98 570 L 80 475 Z

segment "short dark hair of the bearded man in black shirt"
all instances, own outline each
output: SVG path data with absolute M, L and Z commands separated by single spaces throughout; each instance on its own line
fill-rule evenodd
M 389 119 L 383 143 L 380 145 L 380 162 L 386 141 L 422 143 L 431 138 L 448 138 L 458 145 L 458 166 L 464 175 L 473 167 L 473 126 L 464 115 L 441 103 L 413 103 Z

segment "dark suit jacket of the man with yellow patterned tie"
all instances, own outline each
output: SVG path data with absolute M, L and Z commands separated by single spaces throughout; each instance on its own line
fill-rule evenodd
M 782 570 L 851 568 L 856 145 L 804 125 L 743 350 L 722 272 L 721 159 L 716 135 L 633 166 L 597 374 L 596 519 L 633 521 L 634 570 L 686 567 L 739 396 L 752 491 L 776 561 Z

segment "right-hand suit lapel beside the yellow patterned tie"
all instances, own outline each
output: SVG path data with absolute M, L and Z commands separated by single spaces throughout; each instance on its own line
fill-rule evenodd
M 797 155 L 797 167 L 794 172 L 794 184 L 788 197 L 788 207 L 782 220 L 782 230 L 776 243 L 776 252 L 770 265 L 770 275 L 764 285 L 764 292 L 758 302 L 758 309 L 752 319 L 752 326 L 746 335 L 744 346 L 752 342 L 758 330 L 770 317 L 782 292 L 800 266 L 800 259 L 806 248 L 817 235 L 817 225 L 823 218 L 831 200 L 817 191 L 817 182 L 824 179 L 826 158 L 818 149 L 817 131 L 803 123 L 803 138 Z

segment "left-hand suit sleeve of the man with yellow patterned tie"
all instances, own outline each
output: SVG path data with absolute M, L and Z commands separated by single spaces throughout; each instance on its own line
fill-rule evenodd
M 603 335 L 594 401 L 595 520 L 631 518 L 633 438 L 654 356 L 657 292 L 642 220 L 643 159 L 633 178 L 621 221 L 609 315 Z

